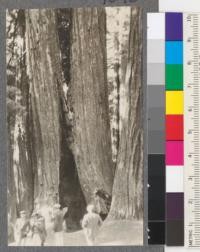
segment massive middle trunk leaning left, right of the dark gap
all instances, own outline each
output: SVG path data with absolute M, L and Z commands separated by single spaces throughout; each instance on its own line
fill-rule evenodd
M 103 8 L 73 10 L 70 99 L 74 156 L 86 201 L 95 188 L 111 193 L 113 163 Z

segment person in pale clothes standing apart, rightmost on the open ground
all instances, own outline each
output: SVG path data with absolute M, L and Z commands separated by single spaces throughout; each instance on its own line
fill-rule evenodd
M 82 228 L 89 246 L 95 245 L 96 237 L 101 225 L 101 217 L 99 214 L 95 213 L 94 205 L 88 205 L 87 214 L 84 215 L 82 220 Z

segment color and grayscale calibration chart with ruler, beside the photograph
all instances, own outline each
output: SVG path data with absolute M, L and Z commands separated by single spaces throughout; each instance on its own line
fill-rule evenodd
M 200 247 L 200 14 L 147 26 L 149 244 Z

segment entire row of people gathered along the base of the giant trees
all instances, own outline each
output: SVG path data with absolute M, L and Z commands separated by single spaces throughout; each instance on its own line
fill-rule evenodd
M 89 246 L 95 245 L 96 238 L 103 220 L 108 214 L 110 207 L 110 199 L 105 196 L 105 199 L 99 197 L 99 191 L 95 192 L 94 201 L 87 206 L 87 213 L 83 216 L 81 226 L 83 228 L 86 242 Z M 101 201 L 102 199 L 102 201 Z M 48 215 L 51 222 L 51 231 L 55 238 L 55 246 L 64 245 L 64 216 L 67 214 L 68 208 L 61 209 L 60 204 L 55 204 Z M 13 226 L 10 218 L 8 218 L 8 236 L 11 240 L 15 240 L 17 246 L 44 246 L 47 240 L 46 214 L 42 214 L 40 208 L 37 207 L 29 218 L 25 211 L 20 212 L 20 217 Z M 49 225 L 48 225 L 49 228 Z

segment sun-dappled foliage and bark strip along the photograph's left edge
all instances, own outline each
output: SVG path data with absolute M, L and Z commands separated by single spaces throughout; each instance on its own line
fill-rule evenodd
M 25 16 L 12 11 L 7 26 L 8 211 L 33 209 L 33 175 L 29 152 L 29 86 L 25 64 Z

